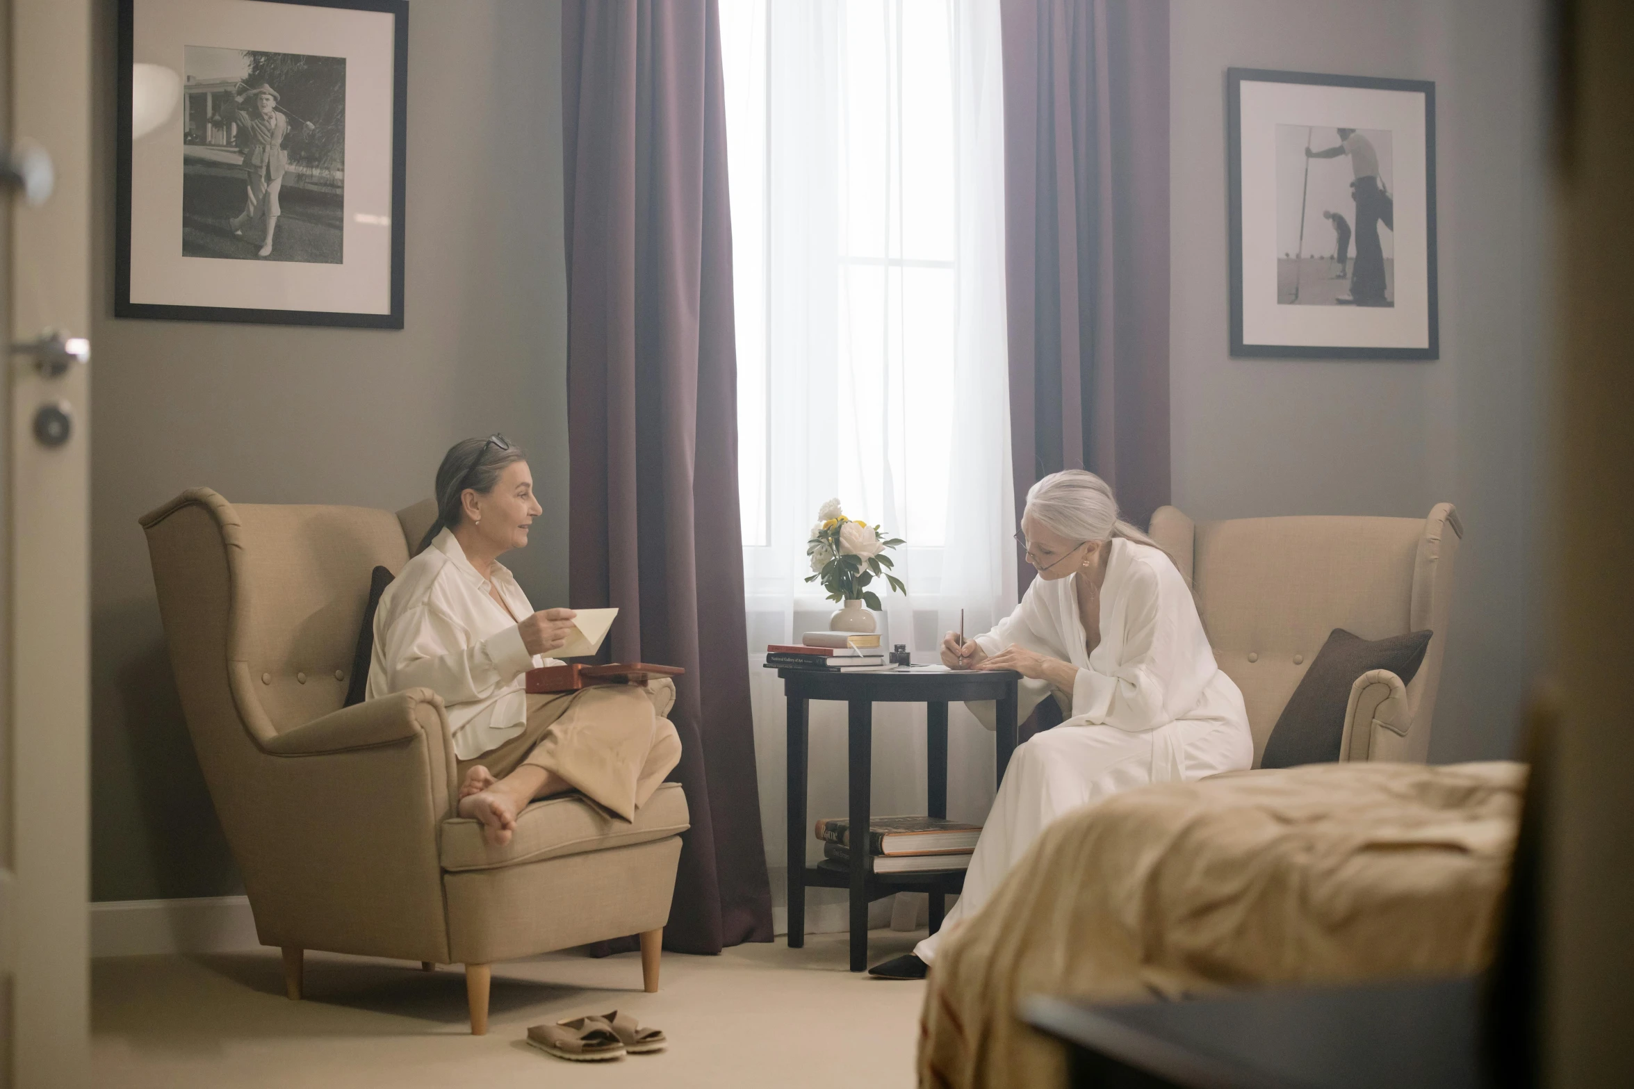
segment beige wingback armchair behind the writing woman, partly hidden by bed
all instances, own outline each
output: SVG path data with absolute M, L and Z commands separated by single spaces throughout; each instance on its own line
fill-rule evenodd
M 1260 764 L 1271 727 L 1328 633 L 1433 632 L 1412 684 L 1387 669 L 1350 691 L 1340 759 L 1418 761 L 1446 650 L 1453 560 L 1464 529 L 1451 503 L 1428 518 L 1239 518 L 1193 522 L 1173 506 L 1152 537 L 1191 585 L 1221 669 L 1242 689 Z

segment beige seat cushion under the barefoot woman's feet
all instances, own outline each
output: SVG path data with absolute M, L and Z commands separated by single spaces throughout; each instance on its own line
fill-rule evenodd
M 634 821 L 621 821 L 578 793 L 534 802 L 516 818 L 516 831 L 503 847 L 482 838 L 482 823 L 464 816 L 443 821 L 443 869 L 495 870 L 567 854 L 627 847 L 676 836 L 688 828 L 686 792 L 678 782 L 660 784 Z

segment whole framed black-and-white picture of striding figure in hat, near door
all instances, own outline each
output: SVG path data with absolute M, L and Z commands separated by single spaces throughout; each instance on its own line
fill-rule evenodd
M 121 0 L 114 315 L 404 327 L 407 0 Z

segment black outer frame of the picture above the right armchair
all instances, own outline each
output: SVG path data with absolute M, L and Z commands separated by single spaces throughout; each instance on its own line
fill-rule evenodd
M 1245 343 L 1243 335 L 1243 83 L 1301 83 L 1363 91 L 1407 91 L 1423 96 L 1423 225 L 1425 225 L 1425 294 L 1428 313 L 1425 343 L 1420 346 L 1379 344 L 1297 344 Z M 1227 263 L 1230 279 L 1230 354 L 1258 359 L 1438 359 L 1441 354 L 1440 302 L 1436 287 L 1436 178 L 1435 178 L 1435 83 L 1366 75 L 1327 75 L 1317 72 L 1279 72 L 1271 69 L 1226 70 L 1226 147 L 1230 235 Z M 1273 247 L 1275 250 L 1275 247 Z M 1275 253 L 1273 253 L 1275 256 Z

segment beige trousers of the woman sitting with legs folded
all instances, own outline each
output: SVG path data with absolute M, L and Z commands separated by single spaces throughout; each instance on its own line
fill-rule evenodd
M 681 738 L 665 718 L 673 705 L 670 678 L 652 679 L 645 689 L 606 684 L 529 696 L 523 731 L 497 749 L 459 761 L 459 777 L 477 764 L 497 779 L 533 764 L 632 821 L 681 761 Z

